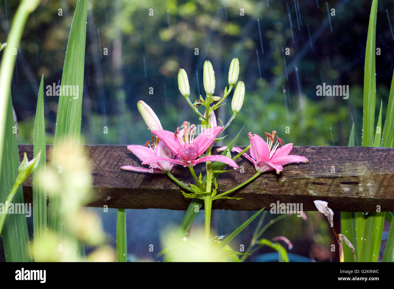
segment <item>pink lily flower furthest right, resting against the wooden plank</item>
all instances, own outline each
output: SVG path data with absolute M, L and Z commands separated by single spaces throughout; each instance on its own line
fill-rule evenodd
M 267 142 L 257 134 L 252 134 L 251 132 L 248 134 L 250 145 L 252 146 L 249 149 L 250 156 L 247 155 L 247 153 L 244 153 L 243 156 L 255 165 L 256 171 L 264 173 L 266 171 L 275 170 L 276 173 L 279 174 L 286 164 L 293 162 L 309 162 L 305 156 L 289 155 L 293 148 L 292 143 L 283 145 L 283 140 L 277 136 L 276 143 L 274 144 L 275 134 L 276 131 L 273 131 L 272 134 L 266 133 Z M 220 147 L 217 151 L 223 151 L 226 148 L 227 146 Z M 232 151 L 240 153 L 242 149 L 233 147 Z

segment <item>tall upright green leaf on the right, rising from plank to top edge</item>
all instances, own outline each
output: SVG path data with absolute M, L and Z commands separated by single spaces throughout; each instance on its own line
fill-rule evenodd
M 375 38 L 376 38 L 377 0 L 372 1 L 368 25 L 367 43 L 364 63 L 364 104 L 362 112 L 362 146 L 374 145 L 376 72 L 375 72 Z

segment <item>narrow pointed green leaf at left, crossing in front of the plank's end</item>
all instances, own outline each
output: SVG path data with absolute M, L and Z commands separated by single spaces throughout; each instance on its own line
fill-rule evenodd
M 45 174 L 46 153 L 45 153 L 45 118 L 44 118 L 44 75 L 41 76 L 40 88 L 37 98 L 37 109 L 34 121 L 33 155 L 41 151 L 41 158 L 37 169 L 33 172 L 33 232 L 34 247 L 38 248 L 44 232 L 46 223 L 46 190 L 38 184 L 39 175 Z M 34 250 L 37 252 L 38 250 Z M 34 255 L 34 261 L 41 260 L 39 254 Z

